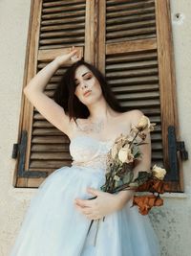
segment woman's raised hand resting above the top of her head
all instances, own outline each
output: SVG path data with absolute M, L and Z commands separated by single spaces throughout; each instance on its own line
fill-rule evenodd
M 79 50 L 75 49 L 73 46 L 73 48 L 70 49 L 69 54 L 57 56 L 55 58 L 55 61 L 57 62 L 57 64 L 59 66 L 61 66 L 68 61 L 72 61 L 74 63 L 74 62 L 80 60 L 81 58 L 82 58 L 81 52 Z

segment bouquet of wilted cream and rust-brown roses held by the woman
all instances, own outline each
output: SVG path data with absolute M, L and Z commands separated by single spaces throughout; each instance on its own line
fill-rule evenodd
M 121 134 L 117 137 L 112 149 L 108 152 L 106 182 L 100 188 L 102 191 L 112 194 L 122 190 L 151 192 L 151 195 L 134 196 L 133 198 L 132 207 L 137 205 L 138 211 L 142 215 L 148 214 L 153 206 L 163 204 L 159 194 L 164 193 L 166 189 L 163 182 L 163 177 L 166 174 L 165 169 L 155 165 L 151 172 L 149 172 L 150 170 L 140 171 L 137 177 L 135 177 L 133 171 L 136 160 L 141 160 L 143 157 L 139 146 L 146 144 L 145 131 L 153 131 L 154 126 L 156 124 L 151 124 L 149 118 L 143 115 L 138 125 L 132 127 L 128 135 Z M 156 192 L 158 193 L 157 196 L 154 194 Z M 93 222 L 94 220 L 91 221 L 88 233 Z

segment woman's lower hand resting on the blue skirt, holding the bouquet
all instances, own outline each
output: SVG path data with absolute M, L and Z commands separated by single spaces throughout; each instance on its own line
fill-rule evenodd
M 74 200 L 75 207 L 90 220 L 101 219 L 118 210 L 118 200 L 116 195 L 87 188 L 87 192 L 95 199 L 79 199 Z

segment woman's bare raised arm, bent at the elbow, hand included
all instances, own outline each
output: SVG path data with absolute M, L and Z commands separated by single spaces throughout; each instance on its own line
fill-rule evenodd
M 75 61 L 79 59 L 79 57 L 77 57 L 77 50 L 74 48 L 69 54 L 54 58 L 53 61 L 40 70 L 24 88 L 24 94 L 32 105 L 34 105 L 54 127 L 60 129 L 67 135 L 69 135 L 71 130 L 69 116 L 66 115 L 60 105 L 57 105 L 51 98 L 46 96 L 44 89 L 59 66 L 72 57 L 76 57 Z

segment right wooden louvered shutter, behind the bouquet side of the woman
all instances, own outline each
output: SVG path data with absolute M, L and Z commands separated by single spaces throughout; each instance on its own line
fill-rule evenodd
M 182 192 L 169 1 L 100 1 L 98 13 L 97 66 L 126 110 L 140 109 L 157 123 L 152 165 L 167 170 L 170 192 Z

